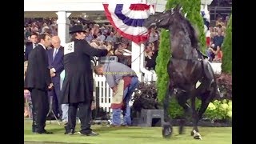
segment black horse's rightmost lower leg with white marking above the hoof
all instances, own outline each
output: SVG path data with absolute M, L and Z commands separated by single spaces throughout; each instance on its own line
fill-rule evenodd
M 197 110 L 195 110 L 195 97 L 191 98 L 191 109 L 192 109 L 192 118 L 193 118 L 193 130 L 191 131 L 191 135 L 194 137 L 194 139 L 202 139 L 198 130 L 199 118 L 198 118 Z

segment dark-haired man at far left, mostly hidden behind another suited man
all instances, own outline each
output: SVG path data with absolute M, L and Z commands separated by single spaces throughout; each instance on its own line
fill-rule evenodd
M 32 32 L 32 34 L 30 34 L 30 41 L 31 42 L 26 44 L 24 62 L 28 60 L 30 51 L 38 46 L 38 33 Z

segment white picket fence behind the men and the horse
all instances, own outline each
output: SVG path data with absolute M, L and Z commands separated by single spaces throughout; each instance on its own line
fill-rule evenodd
M 215 74 L 220 74 L 222 72 L 222 63 L 210 63 L 213 67 Z M 151 78 L 144 78 L 145 81 L 149 79 L 156 80 L 155 74 L 152 76 L 147 76 Z M 153 78 L 154 77 L 154 78 Z M 106 83 L 106 78 L 103 76 L 94 75 L 95 88 L 98 87 L 98 94 L 96 94 L 96 90 L 94 90 L 94 95 L 99 96 L 99 107 L 101 107 L 106 112 L 111 112 L 110 109 L 113 91 L 110 86 Z

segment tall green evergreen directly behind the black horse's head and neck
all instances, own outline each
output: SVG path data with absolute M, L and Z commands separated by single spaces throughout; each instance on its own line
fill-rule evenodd
M 166 3 L 166 10 L 180 4 L 183 8 L 182 13 L 192 23 L 194 28 L 198 31 L 198 41 L 202 51 L 205 51 L 206 35 L 204 34 L 202 15 L 200 14 L 201 0 L 169 0 Z M 160 37 L 160 45 L 157 57 L 156 73 L 158 75 L 158 100 L 162 102 L 165 97 L 169 76 L 167 74 L 167 63 L 170 60 L 170 34 L 169 31 L 162 30 Z

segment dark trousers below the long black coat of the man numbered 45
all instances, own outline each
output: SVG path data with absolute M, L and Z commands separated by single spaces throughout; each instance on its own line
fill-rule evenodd
M 79 102 L 79 103 L 70 103 L 68 110 L 68 130 L 75 128 L 76 125 L 76 116 L 78 110 L 78 116 L 81 121 L 81 134 L 90 134 L 90 120 L 91 120 L 91 110 L 90 110 L 91 102 Z

